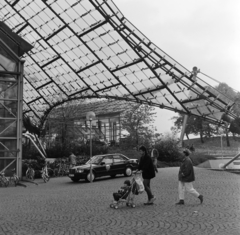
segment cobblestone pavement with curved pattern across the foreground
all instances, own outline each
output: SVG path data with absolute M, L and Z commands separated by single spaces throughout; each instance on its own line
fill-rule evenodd
M 240 175 L 196 168 L 194 187 L 203 204 L 187 195 L 176 206 L 178 168 L 159 169 L 151 187 L 157 200 L 144 206 L 145 192 L 135 197 L 136 208 L 109 207 L 112 193 L 126 177 L 93 183 L 72 183 L 68 177 L 39 185 L 0 188 L 1 235 L 239 235 Z

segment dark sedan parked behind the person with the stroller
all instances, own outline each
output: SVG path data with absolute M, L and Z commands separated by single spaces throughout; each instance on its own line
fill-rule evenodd
M 85 179 L 90 182 L 90 166 L 92 163 L 92 180 L 101 176 L 115 177 L 118 174 L 131 176 L 134 170 L 137 170 L 138 160 L 129 159 L 123 154 L 104 154 L 93 156 L 85 165 L 75 166 L 69 169 L 69 178 L 73 182 Z

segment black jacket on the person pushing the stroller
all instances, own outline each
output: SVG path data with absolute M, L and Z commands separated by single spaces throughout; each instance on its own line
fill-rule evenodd
M 145 155 L 140 158 L 138 170 L 142 171 L 143 179 L 152 179 L 155 177 L 155 169 L 150 156 Z

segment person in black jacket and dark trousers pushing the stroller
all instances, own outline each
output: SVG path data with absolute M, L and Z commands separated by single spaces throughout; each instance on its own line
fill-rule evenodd
M 144 205 L 151 205 L 156 200 L 150 188 L 150 181 L 155 177 L 154 165 L 151 157 L 147 153 L 145 146 L 139 148 L 141 158 L 138 165 L 138 171 L 142 172 L 143 185 L 148 196 L 148 201 Z

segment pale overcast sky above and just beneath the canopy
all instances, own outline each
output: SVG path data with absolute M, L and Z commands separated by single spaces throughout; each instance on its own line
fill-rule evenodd
M 240 91 L 239 0 L 113 0 L 149 40 L 192 71 Z M 170 132 L 177 113 L 156 109 L 159 133 Z

